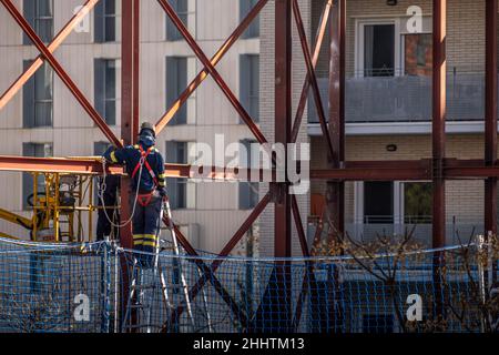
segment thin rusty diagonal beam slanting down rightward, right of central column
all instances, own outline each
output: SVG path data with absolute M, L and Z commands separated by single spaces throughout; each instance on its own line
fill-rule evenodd
M 326 122 L 326 113 L 324 112 L 323 99 L 320 98 L 320 91 L 317 83 L 317 77 L 315 75 L 315 65 L 312 60 L 310 51 L 308 49 L 307 36 L 305 34 L 305 28 L 303 26 L 302 13 L 299 11 L 299 6 L 297 0 L 293 1 L 293 13 L 296 22 L 296 29 L 298 31 L 299 43 L 302 44 L 303 55 L 305 58 L 305 65 L 307 68 L 307 78 L 312 85 L 312 93 L 314 95 L 315 109 L 317 110 L 317 115 L 320 122 L 320 129 L 323 130 L 323 134 L 326 139 L 327 148 L 329 150 L 329 154 L 334 154 L 333 141 L 329 134 L 327 134 L 327 122 Z M 289 138 L 292 141 L 293 136 Z

